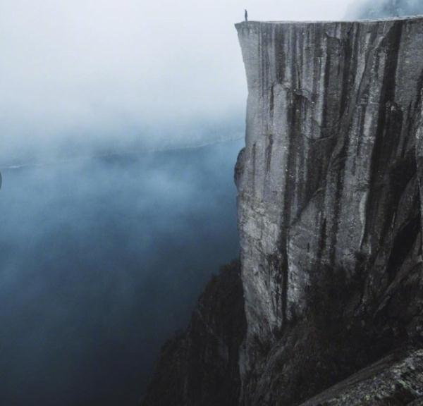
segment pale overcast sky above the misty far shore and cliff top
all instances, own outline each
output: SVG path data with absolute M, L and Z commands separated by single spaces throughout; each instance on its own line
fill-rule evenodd
M 0 158 L 63 140 L 159 142 L 243 119 L 233 23 L 244 8 L 251 20 L 330 20 L 349 2 L 3 0 Z

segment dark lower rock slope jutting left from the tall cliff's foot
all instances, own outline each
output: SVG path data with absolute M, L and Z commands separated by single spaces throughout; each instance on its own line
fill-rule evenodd
M 223 266 L 197 303 L 187 330 L 161 350 L 142 406 L 233 406 L 245 335 L 239 262 Z

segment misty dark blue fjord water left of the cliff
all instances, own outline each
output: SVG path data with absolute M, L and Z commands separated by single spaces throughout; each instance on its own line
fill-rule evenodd
M 0 404 L 135 405 L 238 256 L 243 141 L 3 168 Z

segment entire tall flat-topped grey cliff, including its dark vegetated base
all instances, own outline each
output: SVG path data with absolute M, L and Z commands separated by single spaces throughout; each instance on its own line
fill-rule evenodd
M 239 379 L 226 378 L 239 397 L 216 403 L 202 386 L 181 404 L 299 405 L 322 390 L 306 405 L 417 402 L 423 18 L 236 28 L 248 85 L 235 167 L 246 331 Z M 159 404 L 171 403 L 145 402 Z

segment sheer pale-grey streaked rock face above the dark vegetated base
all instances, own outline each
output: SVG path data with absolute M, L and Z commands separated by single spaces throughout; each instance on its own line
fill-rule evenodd
M 249 90 L 236 171 L 248 369 L 257 341 L 304 318 L 327 270 L 360 278 L 357 312 L 422 261 L 423 20 L 236 27 Z

